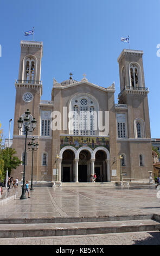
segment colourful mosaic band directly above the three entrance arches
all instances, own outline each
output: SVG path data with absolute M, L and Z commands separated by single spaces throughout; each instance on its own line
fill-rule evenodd
M 60 136 L 60 149 L 66 146 L 72 146 L 76 149 L 84 146 L 91 149 L 105 147 L 110 150 L 110 139 L 109 137 Z

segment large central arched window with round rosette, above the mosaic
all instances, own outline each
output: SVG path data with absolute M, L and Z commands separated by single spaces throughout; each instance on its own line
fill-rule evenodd
M 86 94 L 74 96 L 70 103 L 72 122 L 70 133 L 73 135 L 98 135 L 97 114 L 98 103 Z

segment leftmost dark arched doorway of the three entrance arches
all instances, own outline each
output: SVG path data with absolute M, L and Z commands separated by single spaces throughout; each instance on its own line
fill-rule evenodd
M 62 182 L 74 182 L 73 164 L 74 164 L 74 152 L 67 149 L 62 155 Z

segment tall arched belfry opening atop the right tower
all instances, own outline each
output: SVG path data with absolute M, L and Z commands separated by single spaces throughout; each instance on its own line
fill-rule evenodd
M 130 65 L 130 86 L 132 88 L 142 87 L 140 85 L 140 69 L 138 68 L 138 64 Z

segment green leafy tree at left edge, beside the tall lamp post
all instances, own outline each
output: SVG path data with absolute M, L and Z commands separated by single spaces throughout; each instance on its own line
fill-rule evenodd
M 15 154 L 17 154 L 15 149 L 5 148 L 1 150 L 0 155 L 2 157 L 2 160 L 4 161 L 3 175 L 6 175 L 7 170 L 10 175 L 11 170 L 16 169 L 22 163 L 22 161 L 18 159 Z

